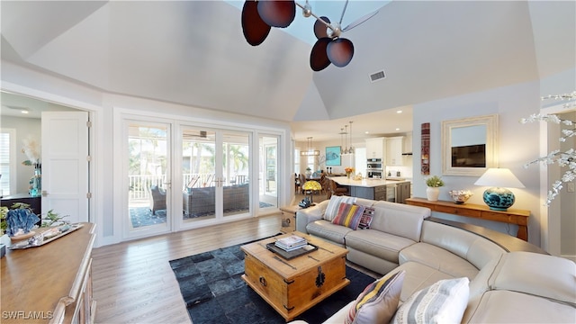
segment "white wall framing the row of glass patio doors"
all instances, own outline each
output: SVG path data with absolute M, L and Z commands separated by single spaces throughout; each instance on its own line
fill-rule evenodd
M 211 110 L 183 106 L 174 103 L 164 103 L 130 96 L 106 94 L 94 88 L 76 85 L 54 76 L 43 75 L 30 69 L 15 66 L 2 61 L 2 89 L 14 94 L 25 94 L 33 98 L 60 103 L 72 108 L 93 112 L 93 169 L 91 170 L 91 185 L 93 199 L 91 206 L 92 221 L 97 224 L 96 246 L 112 244 L 121 240 L 121 228 L 115 219 L 114 204 L 120 197 L 114 195 L 114 164 L 118 157 L 114 156 L 113 143 L 120 139 L 120 134 L 114 133 L 114 110 L 129 109 L 146 112 L 158 112 L 170 115 L 171 118 L 194 118 L 198 121 L 212 121 L 215 124 L 236 124 L 254 129 L 284 131 L 286 136 L 280 143 L 284 160 L 279 161 L 283 171 L 280 185 L 283 196 L 280 203 L 287 204 L 293 196 L 292 179 L 292 144 L 290 126 L 286 122 L 271 121 L 265 118 L 247 117 L 233 113 L 215 112 Z M 40 126 L 38 127 L 40 130 Z M 40 138 L 40 133 L 39 133 Z

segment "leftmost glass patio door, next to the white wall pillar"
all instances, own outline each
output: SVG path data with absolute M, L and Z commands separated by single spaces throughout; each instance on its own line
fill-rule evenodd
M 128 134 L 128 236 L 169 229 L 169 124 L 125 121 Z

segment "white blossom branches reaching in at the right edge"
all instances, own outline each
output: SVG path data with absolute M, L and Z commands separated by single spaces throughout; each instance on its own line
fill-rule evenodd
M 558 95 L 547 95 L 542 97 L 542 100 L 566 100 L 568 103 L 564 103 L 563 107 L 572 110 L 576 109 L 576 91 L 572 94 L 558 94 Z M 574 121 L 563 120 L 554 114 L 545 113 L 535 113 L 530 115 L 528 118 L 523 118 L 520 120 L 521 123 L 534 122 L 534 121 L 547 121 L 554 122 L 556 124 L 563 123 L 564 125 L 572 126 L 572 130 L 562 130 L 563 136 L 558 139 L 561 142 L 566 141 L 568 138 L 576 137 L 576 126 L 574 126 Z M 569 183 L 574 181 L 576 178 L 576 150 L 574 148 L 569 148 L 565 152 L 561 152 L 560 149 L 556 149 L 550 152 L 545 157 L 539 157 L 534 161 L 528 162 L 524 165 L 527 168 L 533 164 L 543 164 L 552 165 L 557 164 L 560 167 L 568 167 L 566 172 L 562 175 L 561 179 L 554 181 L 552 184 L 552 189 L 548 191 L 548 196 L 546 198 L 545 206 L 550 206 L 550 203 L 554 200 L 556 195 L 562 190 L 563 183 Z

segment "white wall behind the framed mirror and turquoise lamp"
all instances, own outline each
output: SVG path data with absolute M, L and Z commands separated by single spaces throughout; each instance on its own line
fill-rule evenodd
M 519 120 L 540 110 L 540 86 L 531 82 L 510 85 L 473 94 L 419 103 L 413 109 L 413 184 L 414 196 L 426 197 L 425 175 L 420 174 L 420 135 L 421 124 L 430 123 L 430 175 L 442 175 L 441 157 L 441 122 L 480 115 L 497 113 L 499 115 L 499 154 L 500 166 L 508 167 L 518 179 L 526 185 L 525 189 L 513 189 L 516 203 L 513 208 L 531 211 L 528 223 L 528 241 L 540 246 L 540 180 L 536 169 L 525 169 L 528 161 L 538 157 L 539 133 L 523 125 Z M 440 200 L 449 201 L 449 190 L 468 189 L 473 191 L 471 203 L 484 204 L 482 192 L 484 187 L 473 183 L 477 177 L 443 176 L 446 186 L 441 188 Z M 499 230 L 516 236 L 518 227 L 489 220 L 478 220 L 460 216 L 436 213 L 435 216 L 449 220 L 464 221 L 490 229 Z

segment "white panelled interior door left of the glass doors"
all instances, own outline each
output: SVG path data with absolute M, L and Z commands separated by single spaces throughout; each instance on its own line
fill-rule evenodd
M 42 215 L 89 221 L 88 112 L 42 112 Z

